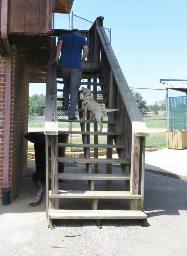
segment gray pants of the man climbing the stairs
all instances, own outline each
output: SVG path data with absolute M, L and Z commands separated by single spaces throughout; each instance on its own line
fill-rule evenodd
M 82 70 L 60 68 L 64 82 L 63 106 L 69 106 L 68 117 L 75 117 Z M 69 100 L 70 94 L 70 100 Z

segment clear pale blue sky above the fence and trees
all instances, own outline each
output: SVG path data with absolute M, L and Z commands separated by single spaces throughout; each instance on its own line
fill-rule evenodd
M 105 18 L 129 87 L 163 89 L 160 79 L 187 79 L 186 9 L 183 0 L 74 0 L 72 11 L 92 22 Z M 157 92 L 151 93 L 150 101 L 144 96 L 148 104 L 157 101 Z M 179 95 L 185 94 L 169 90 L 170 97 Z

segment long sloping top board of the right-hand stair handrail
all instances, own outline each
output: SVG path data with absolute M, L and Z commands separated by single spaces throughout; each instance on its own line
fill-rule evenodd
M 101 45 L 105 51 L 108 62 L 110 64 L 111 70 L 113 72 L 114 79 L 116 81 L 117 87 L 122 97 L 122 101 L 127 110 L 129 119 L 132 124 L 132 128 L 137 137 L 139 136 L 149 136 L 148 129 L 145 122 L 143 121 L 140 111 L 137 107 L 137 104 L 133 98 L 133 95 L 130 91 L 130 88 L 127 84 L 127 81 L 123 75 L 121 67 L 118 63 L 118 60 L 113 52 L 113 49 L 108 40 L 105 29 L 102 26 L 96 26 L 99 38 L 101 40 Z

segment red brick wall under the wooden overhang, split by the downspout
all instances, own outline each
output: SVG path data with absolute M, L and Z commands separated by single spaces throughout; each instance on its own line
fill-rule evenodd
M 27 169 L 29 78 L 15 45 L 11 45 L 11 132 L 9 186 L 11 200 L 20 185 Z M 0 198 L 2 198 L 3 157 L 4 157 L 4 116 L 5 116 L 5 72 L 6 58 L 0 59 Z

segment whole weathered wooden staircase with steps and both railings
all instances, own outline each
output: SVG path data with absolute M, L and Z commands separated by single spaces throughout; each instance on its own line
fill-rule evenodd
M 137 105 L 133 99 L 121 68 L 102 27 L 103 17 L 98 17 L 87 31 L 89 44 L 88 60 L 83 66 L 84 82 L 81 85 L 91 89 L 93 98 L 106 108 L 119 108 L 120 112 L 109 112 L 108 131 L 98 133 L 95 120 L 76 120 L 80 123 L 80 131 L 64 131 L 66 134 L 79 134 L 82 144 L 58 143 L 58 122 L 68 122 L 57 118 L 57 80 L 60 72 L 52 60 L 55 56 L 56 40 L 51 40 L 51 56 L 47 67 L 46 85 L 46 216 L 49 225 L 53 219 L 142 219 L 147 223 L 147 215 L 143 212 L 144 190 L 144 158 L 145 136 L 149 136 Z M 63 32 L 63 31 L 62 31 Z M 85 35 L 84 31 L 84 35 Z M 58 81 L 62 83 L 62 81 Z M 100 90 L 98 91 L 98 88 Z M 63 89 L 58 89 L 63 91 Z M 97 95 L 102 94 L 103 100 Z M 79 119 L 83 117 L 82 99 L 78 95 Z M 62 99 L 58 99 L 62 100 Z M 62 108 L 58 108 L 62 110 Z M 94 131 L 90 131 L 90 123 Z M 107 144 L 98 144 L 98 135 L 107 137 Z M 90 144 L 90 136 L 94 136 L 94 144 Z M 85 158 L 58 157 L 59 147 L 80 147 L 84 149 Z M 94 148 L 94 158 L 90 158 L 90 148 Z M 98 149 L 107 150 L 107 159 L 98 158 Z M 118 159 L 112 158 L 112 149 L 117 150 Z M 51 156 L 49 157 L 49 150 Z M 85 173 L 58 173 L 58 162 L 85 164 Z M 99 173 L 99 164 L 106 164 L 106 174 Z M 121 174 L 113 174 L 113 164 L 121 165 Z M 94 165 L 94 172 L 92 172 Z M 88 190 L 59 190 L 59 180 L 87 180 Z M 95 181 L 106 181 L 106 190 L 94 189 Z M 128 191 L 114 191 L 112 181 L 125 181 Z M 59 199 L 91 199 L 89 210 L 59 209 Z M 129 210 L 98 210 L 99 199 L 128 199 Z M 108 206 L 110 207 L 110 205 Z

